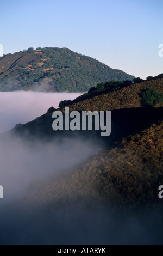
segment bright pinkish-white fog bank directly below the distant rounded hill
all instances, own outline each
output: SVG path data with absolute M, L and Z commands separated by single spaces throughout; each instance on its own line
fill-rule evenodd
M 58 108 L 61 100 L 73 100 L 80 95 L 82 94 L 0 92 L 0 133 L 45 114 L 51 106 Z

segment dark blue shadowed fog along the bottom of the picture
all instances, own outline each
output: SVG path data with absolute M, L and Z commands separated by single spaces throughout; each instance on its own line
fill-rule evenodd
M 91 205 L 91 203 L 90 203 Z M 1 245 L 161 245 L 162 209 L 124 212 L 77 202 L 0 214 Z M 37 205 L 35 205 L 35 208 Z M 14 206 L 13 206 L 14 208 Z

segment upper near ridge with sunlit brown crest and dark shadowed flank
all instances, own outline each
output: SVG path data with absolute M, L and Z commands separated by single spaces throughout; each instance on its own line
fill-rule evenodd
M 144 81 L 138 84 L 132 84 L 130 86 L 114 90 L 113 92 L 108 92 L 103 90 L 100 92 L 91 92 L 85 93 L 72 101 L 68 101 L 65 106 L 69 107 L 69 111 L 111 111 L 111 119 L 115 121 L 121 120 L 124 124 L 130 125 L 134 122 L 134 116 L 139 117 L 140 127 L 141 124 L 149 125 L 152 121 L 156 121 L 157 118 L 161 118 L 161 109 L 163 107 L 163 102 L 158 103 L 154 107 L 152 106 L 143 106 L 142 105 L 142 92 L 147 90 L 147 88 L 156 88 L 159 93 L 163 93 L 163 78 L 152 81 Z M 98 94 L 99 93 L 99 94 Z M 50 107 L 50 106 L 49 106 Z M 49 109 L 52 108 L 52 111 L 49 112 Z M 26 124 L 17 124 L 11 131 L 15 131 L 17 134 L 20 133 L 23 135 L 29 134 L 30 136 L 53 136 L 55 133 L 62 136 L 63 134 L 71 133 L 71 131 L 54 131 L 52 129 L 52 113 L 54 111 L 61 111 L 64 113 L 64 107 L 58 107 L 54 109 L 50 107 L 47 113 L 37 117 L 35 120 L 29 121 Z M 150 118 L 151 115 L 151 118 Z M 143 117 L 143 118 L 142 118 Z M 127 122 L 125 124 L 125 122 Z M 139 126 L 135 126 L 139 127 Z M 134 128 L 134 127 L 133 127 Z M 132 128 L 132 129 L 133 129 Z M 145 126 L 142 126 L 145 129 Z M 135 130 L 133 130 L 135 132 Z M 72 131 L 74 134 L 76 131 Z M 78 132 L 78 131 L 77 131 Z M 120 133 L 116 130 L 117 133 Z M 115 132 L 115 134 L 116 134 Z M 8 132 L 7 132 L 8 133 Z M 84 132 L 83 132 L 84 133 Z M 96 132 L 95 132 L 96 133 Z M 86 136 L 87 133 L 85 132 Z M 129 135 L 129 134 L 127 134 Z M 93 135 L 94 136 L 94 135 Z M 122 135 L 126 136 L 125 134 Z M 110 137 L 110 136 L 109 136 Z M 117 138 L 121 139 L 121 138 Z

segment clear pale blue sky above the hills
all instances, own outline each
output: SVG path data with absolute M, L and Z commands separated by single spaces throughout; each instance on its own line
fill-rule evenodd
M 163 72 L 162 0 L 1 0 L 4 54 L 67 47 L 146 78 Z

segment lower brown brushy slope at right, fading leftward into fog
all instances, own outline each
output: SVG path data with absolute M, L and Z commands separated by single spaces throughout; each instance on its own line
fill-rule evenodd
M 158 202 L 162 172 L 163 123 L 153 124 L 122 139 L 112 150 L 102 150 L 83 166 L 54 179 L 29 194 L 30 203 L 112 202 L 119 206 L 153 205 Z

